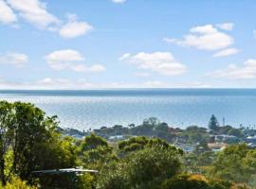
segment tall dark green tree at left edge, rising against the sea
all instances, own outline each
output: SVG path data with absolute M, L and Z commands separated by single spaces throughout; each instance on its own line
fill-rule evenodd
M 35 168 L 28 163 L 33 158 L 31 149 L 37 143 L 47 142 L 56 128 L 55 119 L 46 117 L 45 112 L 30 103 L 0 102 L 0 176 L 4 185 L 12 173 L 21 179 L 28 178 Z M 13 158 L 9 173 L 3 174 L 7 150 L 12 150 Z

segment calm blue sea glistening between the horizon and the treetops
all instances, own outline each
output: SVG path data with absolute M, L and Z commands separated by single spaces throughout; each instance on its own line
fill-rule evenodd
M 151 116 L 179 128 L 207 127 L 211 114 L 234 127 L 256 125 L 256 89 L 0 91 L 0 99 L 32 102 L 64 128 L 127 126 Z

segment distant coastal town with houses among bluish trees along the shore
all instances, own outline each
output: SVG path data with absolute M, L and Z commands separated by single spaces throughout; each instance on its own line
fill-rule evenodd
M 207 124 L 208 128 L 189 126 L 187 129 L 179 129 L 161 122 L 155 117 L 145 119 L 140 125 L 129 124 L 128 126 L 115 125 L 111 128 L 101 127 L 101 129 L 60 129 L 66 136 L 72 136 L 82 139 L 85 136 L 95 133 L 109 142 L 117 142 L 129 139 L 135 136 L 157 137 L 174 144 L 186 152 L 192 152 L 196 148 L 201 148 L 207 144 L 212 151 L 219 151 L 226 146 L 234 144 L 247 144 L 247 146 L 256 148 L 256 129 L 253 127 L 233 128 L 225 125 L 220 126 L 218 119 L 212 115 Z

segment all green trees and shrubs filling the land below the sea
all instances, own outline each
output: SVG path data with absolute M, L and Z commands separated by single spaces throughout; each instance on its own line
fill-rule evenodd
M 0 102 L 2 188 L 242 189 L 256 185 L 256 149 L 240 143 L 246 133 L 229 128 L 228 132 L 241 134 L 239 141 L 213 152 L 208 146 L 214 142 L 210 135 L 226 132 L 228 127 L 219 127 L 212 118 L 210 131 L 170 129 L 155 119 L 130 129 L 116 127 L 116 131 L 133 130 L 137 136 L 115 142 L 89 132 L 83 139 L 64 136 L 58 124 L 56 116 L 48 117 L 32 104 Z M 173 145 L 181 142 L 196 146 L 187 152 Z M 32 172 L 77 166 L 99 170 L 99 174 Z

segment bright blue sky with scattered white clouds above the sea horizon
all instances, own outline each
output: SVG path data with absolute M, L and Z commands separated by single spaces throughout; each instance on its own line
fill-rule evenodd
M 0 89 L 255 88 L 256 2 L 0 0 Z

